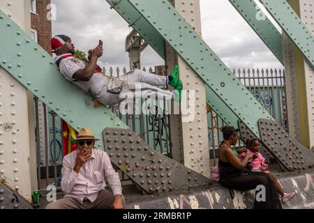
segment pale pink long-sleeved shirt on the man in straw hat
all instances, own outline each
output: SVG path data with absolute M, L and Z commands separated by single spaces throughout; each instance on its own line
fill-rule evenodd
M 104 177 L 107 179 L 113 194 L 122 195 L 119 174 L 112 168 L 107 153 L 94 148 L 91 157 L 77 174 L 73 170 L 77 151 L 63 158 L 61 189 L 66 194 L 64 197 L 73 197 L 81 203 L 86 197 L 89 201 L 94 202 L 98 192 L 105 187 Z

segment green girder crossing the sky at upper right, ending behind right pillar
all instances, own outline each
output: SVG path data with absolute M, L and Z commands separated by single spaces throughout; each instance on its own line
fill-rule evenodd
M 283 39 L 274 24 L 267 17 L 257 20 L 260 8 L 253 0 L 228 0 L 240 13 L 244 20 L 260 36 L 261 40 L 269 47 L 278 61 L 283 64 Z

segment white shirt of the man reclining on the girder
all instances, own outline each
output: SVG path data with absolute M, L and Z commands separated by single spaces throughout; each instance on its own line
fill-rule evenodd
M 62 54 L 60 56 L 57 56 L 55 58 L 55 61 L 58 61 L 61 56 L 64 55 L 68 54 Z M 77 59 L 74 56 L 69 56 L 68 58 L 61 61 L 61 63 L 59 64 L 59 69 L 61 74 L 70 82 L 73 82 L 77 86 L 80 86 L 80 88 L 82 88 L 87 93 L 96 95 L 101 91 L 101 89 L 103 89 L 106 81 L 103 73 L 95 73 L 88 82 L 82 82 L 73 79 L 74 73 L 77 72 L 77 70 L 84 69 L 86 66 L 87 64 L 84 61 Z

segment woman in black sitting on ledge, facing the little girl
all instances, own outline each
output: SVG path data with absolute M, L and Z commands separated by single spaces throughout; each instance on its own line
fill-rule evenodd
M 246 170 L 249 160 L 256 158 L 256 155 L 247 153 L 243 162 L 239 156 L 232 151 L 231 146 L 235 146 L 239 139 L 238 132 L 231 126 L 225 126 L 223 131 L 223 143 L 219 148 L 219 174 L 220 183 L 229 189 L 234 190 L 255 190 L 258 185 L 264 185 L 265 199 L 257 201 L 255 199 L 254 209 L 277 209 L 281 208 L 278 194 L 271 184 L 268 174 Z

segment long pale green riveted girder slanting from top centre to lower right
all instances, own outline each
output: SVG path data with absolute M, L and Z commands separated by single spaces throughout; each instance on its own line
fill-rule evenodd
M 122 0 L 123 1 L 123 0 Z M 200 38 L 186 20 L 168 1 L 128 0 L 146 19 L 160 36 L 169 43 L 186 63 L 199 75 L 220 100 L 226 111 L 246 123 L 257 137 L 260 137 L 257 121 L 261 118 L 273 119 L 251 92 L 241 84 L 210 47 Z M 110 1 L 114 3 L 115 1 Z M 212 95 L 211 95 L 211 98 Z M 208 100 L 208 99 L 207 99 Z

